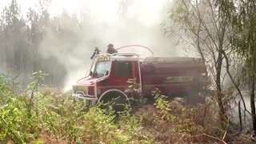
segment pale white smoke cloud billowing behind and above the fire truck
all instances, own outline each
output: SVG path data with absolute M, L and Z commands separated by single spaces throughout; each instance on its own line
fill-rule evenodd
M 90 68 L 94 46 L 106 53 L 109 43 L 113 43 L 115 48 L 138 44 L 150 47 L 156 56 L 185 55 L 182 49 L 175 48 L 174 39 L 166 38 L 162 31 L 161 24 L 167 18 L 171 1 L 98 2 L 86 1 L 77 15 L 70 16 L 63 12 L 61 26 L 58 27 L 68 28 L 66 35 L 59 38 L 49 28 L 41 43 L 40 54 L 43 57 L 54 56 L 66 66 L 68 75 L 64 91 L 70 90 L 79 78 L 85 76 L 86 70 Z M 138 47 L 119 52 L 150 56 L 149 51 Z

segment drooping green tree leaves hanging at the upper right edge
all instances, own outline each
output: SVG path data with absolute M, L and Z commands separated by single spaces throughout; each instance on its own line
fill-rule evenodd
M 230 15 L 232 30 L 234 30 L 234 34 L 230 37 L 230 43 L 234 50 L 242 56 L 241 59 L 246 65 L 244 71 L 246 73 L 249 71 L 251 78 L 254 77 L 256 62 L 256 4 L 250 0 L 238 2 L 237 9 L 239 12 L 233 11 Z

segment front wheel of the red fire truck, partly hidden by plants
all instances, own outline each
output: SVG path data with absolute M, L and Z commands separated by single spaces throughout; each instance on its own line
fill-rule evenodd
M 103 94 L 102 98 L 99 99 L 99 103 L 102 104 L 102 108 L 107 110 L 111 106 L 114 112 L 124 111 L 126 106 L 130 106 L 129 99 L 126 95 L 116 90 Z

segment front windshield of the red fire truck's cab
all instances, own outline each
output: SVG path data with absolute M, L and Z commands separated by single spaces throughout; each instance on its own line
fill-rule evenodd
M 94 68 L 94 78 L 102 78 L 106 74 L 106 71 L 110 71 L 110 61 L 97 62 Z

